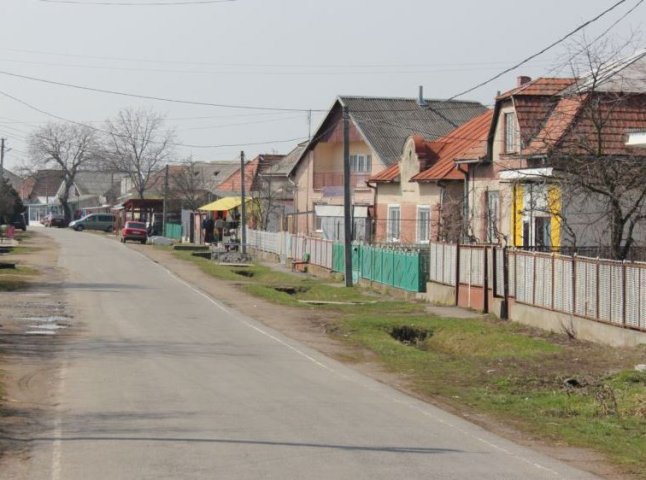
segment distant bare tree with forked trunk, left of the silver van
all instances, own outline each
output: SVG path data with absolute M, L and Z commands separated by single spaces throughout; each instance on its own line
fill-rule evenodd
M 63 172 L 58 200 L 69 222 L 69 204 L 76 174 L 96 161 L 99 152 L 96 130 L 73 123 L 49 123 L 29 136 L 29 157 L 33 167 L 53 166 Z

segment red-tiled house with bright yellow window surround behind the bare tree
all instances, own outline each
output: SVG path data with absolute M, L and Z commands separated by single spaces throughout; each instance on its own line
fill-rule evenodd
M 499 95 L 486 157 L 463 165 L 468 237 L 547 250 L 609 245 L 607 199 L 582 195 L 564 175 L 575 159 L 635 156 L 627 143 L 646 129 L 645 70 L 642 51 L 594 76 L 519 77 Z M 646 225 L 635 228 L 646 242 Z

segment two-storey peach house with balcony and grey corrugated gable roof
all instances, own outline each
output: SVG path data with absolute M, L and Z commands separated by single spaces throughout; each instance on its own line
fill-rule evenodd
M 295 185 L 292 233 L 343 238 L 344 110 L 348 113 L 353 236 L 370 241 L 375 191 L 366 181 L 398 163 L 411 135 L 436 140 L 486 107 L 462 100 L 339 96 L 290 175 Z M 411 147 L 412 148 L 412 147 Z

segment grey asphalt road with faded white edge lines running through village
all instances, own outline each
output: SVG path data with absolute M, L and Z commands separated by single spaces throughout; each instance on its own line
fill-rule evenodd
M 26 478 L 596 478 L 326 358 L 118 242 L 47 235 L 78 332 Z

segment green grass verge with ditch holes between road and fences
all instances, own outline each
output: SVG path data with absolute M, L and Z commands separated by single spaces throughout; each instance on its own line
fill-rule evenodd
M 328 331 L 373 352 L 424 398 L 486 413 L 537 439 L 593 449 L 646 479 L 646 373 L 633 368 L 646 363 L 646 348 L 616 349 L 495 319 L 433 317 L 423 304 L 360 288 L 174 254 L 271 302 L 337 312 Z

